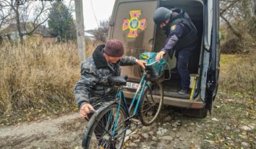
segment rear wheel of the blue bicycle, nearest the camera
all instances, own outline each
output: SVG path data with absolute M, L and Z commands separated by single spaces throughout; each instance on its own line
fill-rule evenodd
M 106 109 L 103 109 L 98 114 L 98 117 L 91 117 L 92 121 L 89 121 L 85 128 L 85 134 L 82 140 L 83 148 L 121 149 L 124 143 L 125 132 L 116 138 L 114 138 L 114 135 L 118 135 L 127 126 L 124 122 L 124 119 L 127 119 L 127 114 L 123 107 L 120 107 L 119 113 L 117 113 L 117 108 L 118 104 L 112 104 Z M 116 116 L 118 118 L 117 124 L 115 125 Z M 114 125 L 116 126 L 115 132 Z

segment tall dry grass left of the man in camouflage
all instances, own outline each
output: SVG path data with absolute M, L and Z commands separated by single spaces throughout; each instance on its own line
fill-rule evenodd
M 90 55 L 99 43 L 87 42 Z M 0 48 L 0 116 L 26 109 L 43 111 L 74 105 L 74 83 L 80 78 L 77 42 Z

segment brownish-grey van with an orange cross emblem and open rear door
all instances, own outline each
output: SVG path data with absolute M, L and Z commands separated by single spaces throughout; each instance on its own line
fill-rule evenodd
M 124 44 L 125 55 L 139 58 L 139 53 L 158 53 L 166 41 L 161 27 L 155 25 L 153 14 L 158 7 L 184 9 L 197 28 L 198 43 L 189 58 L 191 94 L 181 95 L 179 73 L 163 81 L 163 104 L 179 107 L 183 114 L 206 117 L 212 107 L 218 89 L 220 60 L 219 0 L 116 0 L 108 28 L 108 40 L 117 39 Z M 171 68 L 176 59 L 164 56 Z M 121 68 L 127 74 L 129 87 L 124 95 L 129 99 L 135 94 L 140 81 L 137 66 Z

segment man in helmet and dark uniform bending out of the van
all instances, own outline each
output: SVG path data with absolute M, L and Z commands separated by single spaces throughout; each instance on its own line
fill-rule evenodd
M 197 29 L 183 9 L 159 7 L 155 10 L 153 19 L 167 37 L 155 60 L 160 60 L 166 53 L 172 58 L 175 50 L 176 67 L 171 69 L 171 73 L 178 71 L 182 78 L 182 90 L 179 94 L 189 94 L 190 76 L 187 63 L 192 50 L 197 46 Z

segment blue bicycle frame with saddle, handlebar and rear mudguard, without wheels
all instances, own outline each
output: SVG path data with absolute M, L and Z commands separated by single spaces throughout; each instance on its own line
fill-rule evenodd
M 158 63 L 158 61 L 155 61 L 154 63 Z M 145 64 L 145 66 L 151 66 L 154 63 Z M 125 76 L 125 77 L 127 77 L 127 76 Z M 137 120 L 133 119 L 133 117 L 136 116 L 138 108 L 140 108 L 139 106 L 142 106 L 142 105 L 140 105 L 142 100 L 143 100 L 142 97 L 148 96 L 148 95 L 145 95 L 145 93 L 144 93 L 146 86 L 148 86 L 149 91 L 150 91 L 150 96 L 151 96 L 151 98 L 153 98 L 153 96 L 152 96 L 152 92 L 153 91 L 151 90 L 151 85 L 152 84 L 151 84 L 150 78 L 148 78 L 148 71 L 146 71 L 145 68 L 142 69 L 142 78 L 140 80 L 140 83 L 139 83 L 139 86 L 137 88 L 137 91 L 135 92 L 135 95 L 133 96 L 132 102 L 129 105 L 129 107 L 127 105 L 127 101 L 125 99 L 124 92 L 123 92 L 123 87 L 124 87 L 124 84 L 125 84 L 125 81 L 123 79 L 126 79 L 126 78 L 121 78 L 121 79 L 122 79 L 121 83 L 119 81 L 116 81 L 115 79 L 109 79 L 108 81 L 110 83 L 116 84 L 116 85 L 114 85 L 118 89 L 116 91 L 116 95 L 115 96 L 109 96 L 110 97 L 109 98 L 110 101 L 106 101 L 106 102 L 104 102 L 104 101 L 103 102 L 97 101 L 97 103 L 95 103 L 94 106 L 99 106 L 99 108 L 97 110 L 95 110 L 95 111 L 90 110 L 90 112 L 94 112 L 95 114 L 93 114 L 93 117 L 90 118 L 89 126 L 86 127 L 85 134 L 84 134 L 84 137 L 82 139 L 82 147 L 86 148 L 86 147 L 88 147 L 90 145 L 90 138 L 92 137 L 92 136 L 90 136 L 92 134 L 92 130 L 90 130 L 90 128 L 95 129 L 94 128 L 95 125 L 97 126 L 97 124 L 95 124 L 95 122 L 99 123 L 99 121 L 101 120 L 101 118 L 105 114 L 107 114 L 106 117 L 108 117 L 108 118 L 106 120 L 104 120 L 103 128 L 101 128 L 101 131 L 103 130 L 103 132 L 101 134 L 102 137 L 103 137 L 103 140 L 115 141 L 117 139 L 117 137 L 119 137 L 119 135 L 121 135 L 121 134 L 122 135 L 127 135 L 127 134 L 125 134 L 125 132 L 129 128 L 133 127 L 131 125 L 132 122 L 136 122 L 135 125 L 139 125 L 139 123 L 137 123 Z M 148 81 L 148 80 L 150 80 L 150 81 Z M 146 90 L 148 92 L 148 89 L 146 89 Z M 139 92 L 140 92 L 140 95 L 138 95 Z M 103 96 L 103 99 L 105 99 L 105 98 L 108 98 L 108 96 L 107 95 Z M 136 99 L 137 99 L 137 103 L 135 104 L 135 100 Z M 121 104 L 121 101 L 123 101 L 123 104 Z M 134 104 L 135 104 L 135 111 L 132 114 L 130 114 L 129 112 L 132 110 L 132 107 L 134 106 Z M 116 109 L 116 107 L 117 107 L 117 109 L 113 110 L 113 109 L 108 108 L 111 105 L 113 105 L 114 109 Z M 102 108 L 100 108 L 100 107 L 102 107 Z M 105 110 L 106 108 L 108 108 L 108 109 Z M 102 113 L 104 110 L 106 112 L 108 112 L 108 113 Z M 124 119 L 124 120 L 121 120 L 121 122 L 124 122 L 124 124 L 119 125 L 119 127 L 118 127 L 117 125 L 118 125 L 118 119 L 119 119 L 119 112 L 120 112 L 120 110 L 122 112 L 125 111 L 124 112 L 124 114 L 125 114 L 124 117 L 127 117 L 127 118 Z M 98 114 L 100 114 L 101 116 L 98 117 Z M 113 124 L 113 122 L 114 122 L 114 124 Z M 108 132 L 108 129 L 109 129 L 110 125 L 111 125 L 112 132 L 111 131 Z M 105 135 L 106 135 L 106 137 L 105 137 Z M 124 139 L 124 137 L 121 137 L 121 138 Z

